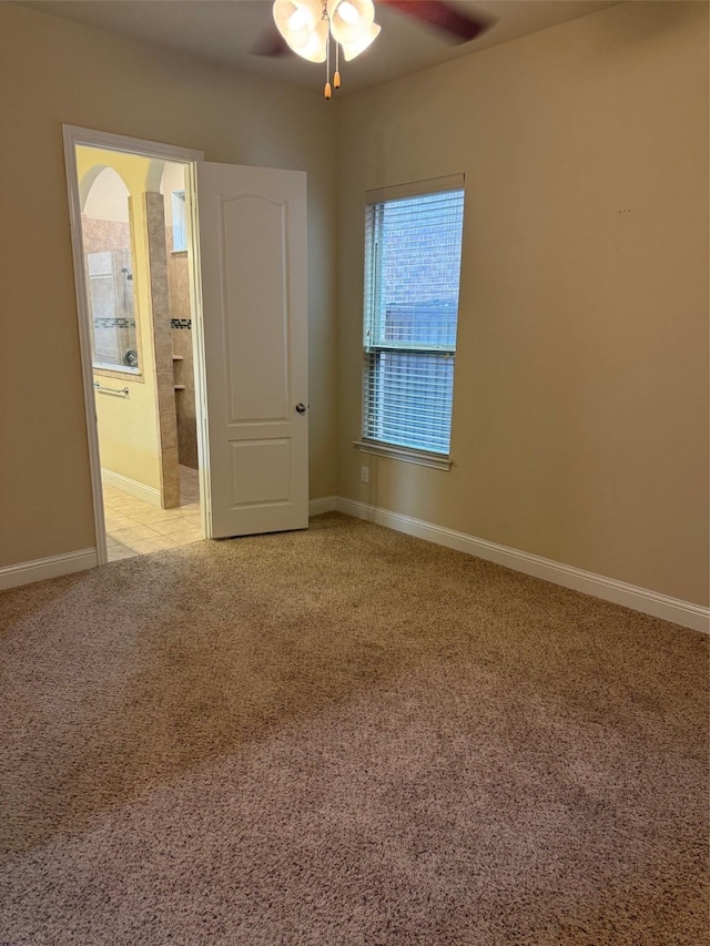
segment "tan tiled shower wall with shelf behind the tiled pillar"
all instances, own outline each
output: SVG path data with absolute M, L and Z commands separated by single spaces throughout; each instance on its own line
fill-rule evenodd
M 195 417 L 195 376 L 192 355 L 192 317 L 187 251 L 172 252 L 172 227 L 165 228 L 168 247 L 168 284 L 172 325 L 175 410 L 178 415 L 178 456 L 185 467 L 197 469 L 197 421 Z

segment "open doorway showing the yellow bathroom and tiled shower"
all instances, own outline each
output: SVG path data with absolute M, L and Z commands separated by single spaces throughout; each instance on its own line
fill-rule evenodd
M 186 167 L 77 144 L 108 561 L 204 538 Z

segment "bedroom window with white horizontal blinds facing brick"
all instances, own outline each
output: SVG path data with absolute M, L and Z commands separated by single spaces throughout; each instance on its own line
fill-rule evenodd
M 367 205 L 363 449 L 448 456 L 463 177 L 453 184 Z

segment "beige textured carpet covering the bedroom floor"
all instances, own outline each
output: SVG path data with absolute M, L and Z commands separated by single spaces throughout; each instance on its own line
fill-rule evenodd
M 1 944 L 708 942 L 699 633 L 338 515 L 0 623 Z

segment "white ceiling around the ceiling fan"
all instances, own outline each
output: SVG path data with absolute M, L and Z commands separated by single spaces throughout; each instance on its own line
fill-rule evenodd
M 619 0 L 455 0 L 462 12 L 484 16 L 491 27 L 477 39 L 452 45 L 416 20 L 376 6 L 382 33 L 352 63 L 345 63 L 343 94 L 585 17 Z M 272 0 L 27 0 L 22 6 L 123 35 L 256 72 L 321 93 L 325 67 L 296 55 L 255 55 L 272 31 Z

